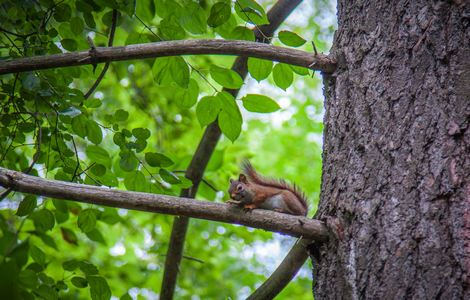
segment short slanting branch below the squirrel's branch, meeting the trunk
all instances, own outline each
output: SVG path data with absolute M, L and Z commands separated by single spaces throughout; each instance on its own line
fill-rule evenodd
M 269 278 L 247 299 L 274 299 L 294 278 L 308 258 L 309 239 L 300 239 Z

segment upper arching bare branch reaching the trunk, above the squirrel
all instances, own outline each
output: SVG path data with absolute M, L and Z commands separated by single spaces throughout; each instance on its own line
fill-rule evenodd
M 0 75 L 59 67 L 81 66 L 109 61 L 162 56 L 221 54 L 257 57 L 331 73 L 333 59 L 326 55 L 263 43 L 229 40 L 183 40 L 121 47 L 96 47 L 90 51 L 23 57 L 2 61 Z

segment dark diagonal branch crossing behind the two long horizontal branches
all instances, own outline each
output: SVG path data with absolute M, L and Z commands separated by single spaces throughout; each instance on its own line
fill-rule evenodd
M 256 27 L 254 29 L 257 42 L 269 43 L 269 38 L 273 36 L 277 28 L 284 22 L 289 14 L 302 2 L 301 0 L 279 0 L 268 12 L 269 24 Z M 266 39 L 268 38 L 268 39 Z M 260 43 L 255 43 L 261 45 Z M 233 66 L 232 70 L 236 71 L 242 78 L 248 74 L 247 58 L 239 56 Z M 239 90 L 225 91 L 232 94 L 235 98 Z M 204 170 L 209 162 L 209 159 L 214 152 L 214 149 L 219 141 L 221 131 L 217 120 L 207 126 L 204 135 L 198 145 L 196 152 L 191 160 L 191 163 L 186 171 L 186 177 L 193 182 L 191 189 L 184 190 L 181 193 L 182 197 L 194 198 L 199 183 L 204 174 Z M 179 264 L 183 255 L 184 240 L 189 225 L 189 218 L 177 217 L 173 223 L 170 243 L 168 247 L 168 255 L 165 260 L 165 270 L 163 273 L 162 288 L 160 291 L 160 299 L 170 300 L 173 299 L 173 294 L 176 286 L 176 278 L 178 276 Z

